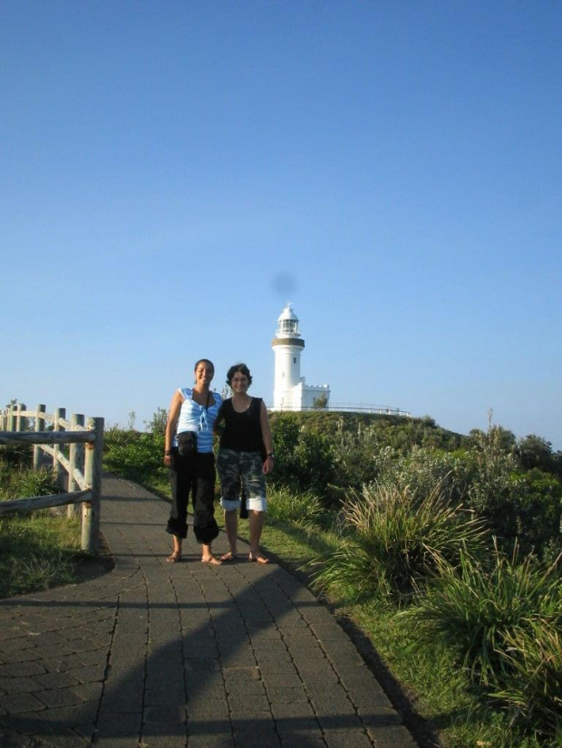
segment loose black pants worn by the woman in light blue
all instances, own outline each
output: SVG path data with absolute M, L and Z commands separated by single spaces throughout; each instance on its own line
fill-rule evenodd
M 168 526 L 170 535 L 188 536 L 189 494 L 193 503 L 193 530 L 199 542 L 208 545 L 218 536 L 215 519 L 215 456 L 212 452 L 194 452 L 181 456 L 172 451 L 170 467 L 171 511 Z

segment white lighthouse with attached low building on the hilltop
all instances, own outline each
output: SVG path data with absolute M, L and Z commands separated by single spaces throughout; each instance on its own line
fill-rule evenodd
M 298 317 L 288 303 L 277 320 L 276 337 L 271 342 L 276 357 L 273 410 L 325 408 L 330 388 L 306 384 L 301 377 L 301 351 L 305 348 L 298 331 Z

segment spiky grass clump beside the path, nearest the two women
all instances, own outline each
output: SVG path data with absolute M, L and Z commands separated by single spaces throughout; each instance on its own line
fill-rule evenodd
M 344 504 L 344 539 L 316 560 L 316 586 L 349 599 L 412 598 L 439 561 L 456 563 L 460 548 L 480 555 L 488 531 L 481 520 L 451 505 L 438 484 L 419 498 L 408 486 L 373 484 Z

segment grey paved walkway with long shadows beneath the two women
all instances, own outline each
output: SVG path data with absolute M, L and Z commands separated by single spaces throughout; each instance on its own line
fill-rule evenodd
M 169 505 L 116 478 L 103 494 L 114 571 L 0 601 L 1 748 L 416 745 L 293 575 L 202 564 L 192 531 L 166 563 Z

